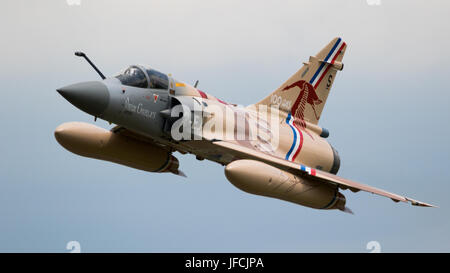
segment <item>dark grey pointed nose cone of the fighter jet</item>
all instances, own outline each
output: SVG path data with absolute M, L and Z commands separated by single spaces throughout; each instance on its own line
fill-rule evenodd
M 102 82 L 80 82 L 56 91 L 77 108 L 94 116 L 100 116 L 108 107 L 109 91 Z

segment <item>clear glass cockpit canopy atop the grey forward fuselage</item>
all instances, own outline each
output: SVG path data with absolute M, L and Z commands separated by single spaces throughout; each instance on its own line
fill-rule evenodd
M 169 78 L 166 74 L 138 65 L 128 67 L 123 73 L 117 75 L 116 78 L 123 85 L 133 87 L 164 90 L 169 88 Z

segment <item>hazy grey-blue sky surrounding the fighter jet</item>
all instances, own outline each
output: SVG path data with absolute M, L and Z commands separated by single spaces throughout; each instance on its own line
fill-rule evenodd
M 450 251 L 448 1 L 2 1 L 0 252 Z M 320 125 L 339 175 L 436 204 L 344 191 L 355 215 L 250 195 L 223 167 L 188 178 L 82 158 L 54 129 L 93 123 L 55 89 L 148 64 L 225 101 L 275 90 L 332 38 L 348 44 Z M 111 128 L 98 120 L 98 126 Z

